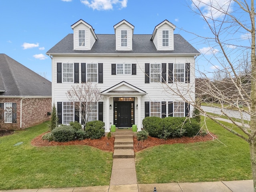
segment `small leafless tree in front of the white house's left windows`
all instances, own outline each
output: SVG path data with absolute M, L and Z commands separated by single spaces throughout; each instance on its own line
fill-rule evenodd
M 96 84 L 93 85 L 91 82 L 77 84 L 66 92 L 66 96 L 70 102 L 74 103 L 75 110 L 79 112 L 82 118 L 82 124 L 93 119 L 92 112 L 101 99 L 100 89 L 97 88 Z

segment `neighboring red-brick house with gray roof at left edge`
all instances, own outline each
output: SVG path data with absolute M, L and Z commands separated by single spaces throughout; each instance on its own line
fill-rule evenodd
M 0 54 L 0 128 L 23 129 L 49 120 L 51 82 Z

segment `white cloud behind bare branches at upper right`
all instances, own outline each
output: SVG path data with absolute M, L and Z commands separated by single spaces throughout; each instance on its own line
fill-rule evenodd
M 225 14 L 223 12 L 231 12 L 230 0 L 192 0 L 193 8 L 200 8 L 202 14 L 213 19 L 221 18 Z

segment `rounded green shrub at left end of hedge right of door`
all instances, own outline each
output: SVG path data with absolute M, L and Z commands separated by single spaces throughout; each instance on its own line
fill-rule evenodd
M 151 137 L 158 137 L 163 133 L 163 121 L 160 117 L 145 117 L 142 125 Z

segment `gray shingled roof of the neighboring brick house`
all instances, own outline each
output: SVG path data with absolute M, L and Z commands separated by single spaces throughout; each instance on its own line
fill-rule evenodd
M 0 96 L 52 96 L 52 83 L 6 54 L 0 54 Z

